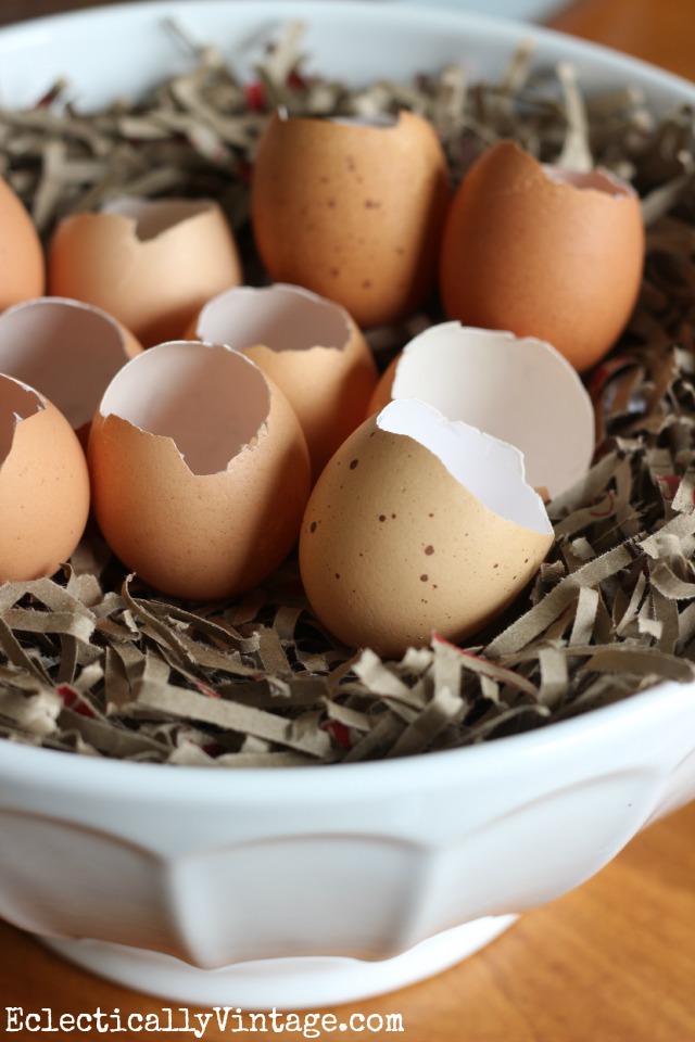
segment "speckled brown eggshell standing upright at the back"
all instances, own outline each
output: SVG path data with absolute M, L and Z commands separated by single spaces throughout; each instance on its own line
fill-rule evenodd
M 338 301 L 363 328 L 406 316 L 432 288 L 450 189 L 432 126 L 274 115 L 251 207 L 271 279 Z

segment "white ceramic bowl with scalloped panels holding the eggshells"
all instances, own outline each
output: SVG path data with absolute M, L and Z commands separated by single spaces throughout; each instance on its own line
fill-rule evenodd
M 93 104 L 152 86 L 189 61 L 163 29 L 173 12 L 241 69 L 291 14 L 316 66 L 353 80 L 460 60 L 471 78 L 498 73 L 526 36 L 583 82 L 695 103 L 677 77 L 528 25 L 339 0 L 138 3 L 16 26 L 0 34 L 0 98 L 27 103 L 66 72 Z M 694 695 L 667 684 L 475 748 L 313 770 L 3 742 L 0 915 L 182 1002 L 300 1008 L 401 987 L 579 886 L 695 798 Z

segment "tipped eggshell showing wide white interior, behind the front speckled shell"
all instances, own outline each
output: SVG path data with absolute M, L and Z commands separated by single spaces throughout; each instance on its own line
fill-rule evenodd
M 525 475 L 551 498 L 586 473 L 595 447 L 591 397 L 552 344 L 459 322 L 431 326 L 396 355 L 370 411 L 393 398 L 421 398 L 448 420 L 464 420 L 516 445 Z

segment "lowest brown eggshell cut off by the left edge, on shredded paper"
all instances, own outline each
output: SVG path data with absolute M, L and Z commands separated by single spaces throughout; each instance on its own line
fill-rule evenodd
M 55 406 L 0 376 L 0 582 L 52 575 L 77 547 L 89 475 L 75 432 Z

